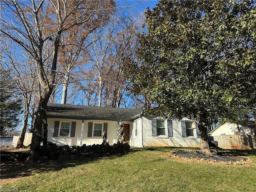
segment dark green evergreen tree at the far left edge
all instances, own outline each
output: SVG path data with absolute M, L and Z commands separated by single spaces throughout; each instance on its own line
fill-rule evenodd
M 19 131 L 22 101 L 15 96 L 14 82 L 8 75 L 1 72 L 0 80 L 1 136 L 12 137 Z

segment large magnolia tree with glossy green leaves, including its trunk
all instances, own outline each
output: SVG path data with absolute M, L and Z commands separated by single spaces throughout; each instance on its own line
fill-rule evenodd
M 207 127 L 255 109 L 255 28 L 254 1 L 160 1 L 146 11 L 138 60 L 126 75 L 153 114 L 194 119 L 201 152 L 211 155 Z

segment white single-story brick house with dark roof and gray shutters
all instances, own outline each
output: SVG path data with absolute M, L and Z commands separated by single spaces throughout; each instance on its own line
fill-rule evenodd
M 48 141 L 58 145 L 102 143 L 107 132 L 109 144 L 117 142 L 119 122 L 124 123 L 130 146 L 200 147 L 199 131 L 188 118 L 166 120 L 142 110 L 66 104 L 48 104 Z

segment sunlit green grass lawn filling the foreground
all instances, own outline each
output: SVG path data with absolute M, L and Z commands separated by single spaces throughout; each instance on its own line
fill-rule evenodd
M 174 149 L 141 148 L 123 156 L 20 166 L 10 169 L 8 175 L 8 170 L 1 172 L 7 177 L 1 179 L 1 186 L 27 192 L 255 191 L 255 150 L 229 150 L 254 161 L 230 166 L 179 162 L 162 156 Z

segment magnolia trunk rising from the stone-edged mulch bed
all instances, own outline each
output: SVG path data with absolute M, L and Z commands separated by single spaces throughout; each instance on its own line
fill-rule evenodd
M 209 139 L 207 136 L 207 121 L 203 116 L 200 116 L 200 121 L 198 124 L 200 131 L 200 152 L 205 155 L 212 156 L 212 152 L 209 147 Z

